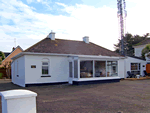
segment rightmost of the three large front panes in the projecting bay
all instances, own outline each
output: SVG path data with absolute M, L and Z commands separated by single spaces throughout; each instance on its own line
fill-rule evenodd
M 107 77 L 118 76 L 117 61 L 107 61 Z

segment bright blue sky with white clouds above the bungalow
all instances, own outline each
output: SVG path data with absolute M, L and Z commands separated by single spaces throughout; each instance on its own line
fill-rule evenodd
M 126 0 L 126 32 L 149 33 L 149 0 Z M 24 50 L 45 38 L 90 41 L 110 50 L 118 41 L 117 0 L 0 0 L 0 51 Z

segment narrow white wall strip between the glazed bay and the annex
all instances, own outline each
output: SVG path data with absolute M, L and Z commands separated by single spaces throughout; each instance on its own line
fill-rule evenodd
M 118 76 L 125 78 L 125 59 L 118 60 Z

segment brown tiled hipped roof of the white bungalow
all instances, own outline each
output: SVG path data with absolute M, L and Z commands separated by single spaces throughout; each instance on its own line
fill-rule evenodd
M 83 41 L 45 38 L 24 52 L 35 53 L 58 53 L 58 54 L 78 54 L 78 55 L 102 55 L 102 56 L 120 56 L 119 54 L 98 46 L 94 43 L 85 43 Z

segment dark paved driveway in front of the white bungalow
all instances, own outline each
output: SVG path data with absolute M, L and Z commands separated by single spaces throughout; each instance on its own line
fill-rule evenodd
M 0 83 L 0 91 L 10 89 L 28 89 L 38 93 L 37 113 L 150 113 L 150 80 L 27 88 L 9 81 Z

